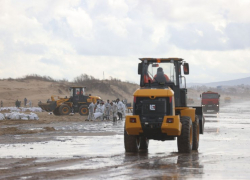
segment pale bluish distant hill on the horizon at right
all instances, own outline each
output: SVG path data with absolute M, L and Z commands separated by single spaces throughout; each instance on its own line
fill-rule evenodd
M 211 83 L 187 83 L 188 87 L 192 86 L 208 86 L 208 87 L 216 87 L 216 86 L 237 86 L 237 85 L 250 85 L 250 77 L 229 80 L 229 81 L 219 81 L 219 82 L 211 82 Z

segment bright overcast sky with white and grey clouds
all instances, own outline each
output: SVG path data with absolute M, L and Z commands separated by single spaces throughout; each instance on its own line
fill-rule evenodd
M 0 78 L 139 82 L 140 57 L 180 57 L 187 82 L 250 76 L 249 0 L 0 0 Z

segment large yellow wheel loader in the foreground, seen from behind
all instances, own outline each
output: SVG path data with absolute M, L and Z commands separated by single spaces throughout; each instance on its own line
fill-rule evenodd
M 149 140 L 175 140 L 178 152 L 199 147 L 205 119 L 202 107 L 187 106 L 188 63 L 180 58 L 141 58 L 140 88 L 134 92 L 133 115 L 126 116 L 126 152 L 147 150 Z

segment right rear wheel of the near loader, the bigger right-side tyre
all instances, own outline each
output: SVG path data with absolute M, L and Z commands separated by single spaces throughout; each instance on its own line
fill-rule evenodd
M 188 116 L 180 118 L 182 123 L 181 135 L 177 138 L 178 152 L 190 153 L 193 145 L 192 120 Z

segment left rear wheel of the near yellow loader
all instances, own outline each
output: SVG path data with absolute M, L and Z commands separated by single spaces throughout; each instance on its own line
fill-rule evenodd
M 124 128 L 124 147 L 126 152 L 138 152 L 140 141 L 138 136 L 128 135 Z

